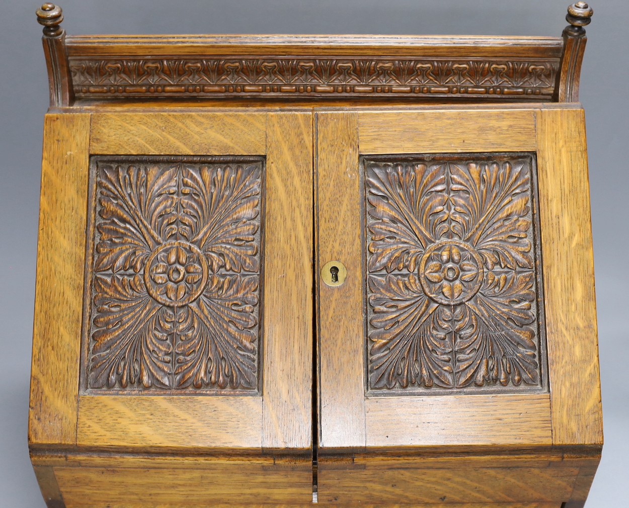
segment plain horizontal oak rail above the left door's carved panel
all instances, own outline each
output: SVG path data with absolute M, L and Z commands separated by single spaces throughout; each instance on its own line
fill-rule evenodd
M 264 113 L 96 113 L 90 152 L 128 155 L 262 155 Z

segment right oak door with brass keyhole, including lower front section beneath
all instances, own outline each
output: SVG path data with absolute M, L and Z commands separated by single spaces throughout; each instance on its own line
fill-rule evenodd
M 557 507 L 593 475 L 584 136 L 580 108 L 317 113 L 320 502 Z

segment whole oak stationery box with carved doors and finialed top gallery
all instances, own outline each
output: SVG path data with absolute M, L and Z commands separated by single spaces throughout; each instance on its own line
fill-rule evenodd
M 581 507 L 603 445 L 562 38 L 66 36 L 44 4 L 49 507 Z

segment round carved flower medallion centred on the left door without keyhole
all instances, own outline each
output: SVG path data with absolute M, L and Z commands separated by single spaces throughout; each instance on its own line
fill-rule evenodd
M 203 293 L 208 283 L 208 262 L 195 245 L 169 241 L 148 258 L 144 282 L 155 301 L 170 307 L 183 306 Z

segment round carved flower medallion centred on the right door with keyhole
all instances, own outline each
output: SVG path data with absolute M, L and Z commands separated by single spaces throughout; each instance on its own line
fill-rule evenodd
M 481 289 L 482 258 L 464 241 L 442 240 L 426 249 L 419 275 L 421 286 L 433 301 L 457 305 Z

